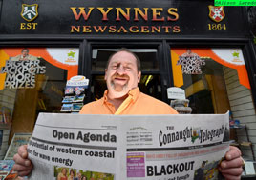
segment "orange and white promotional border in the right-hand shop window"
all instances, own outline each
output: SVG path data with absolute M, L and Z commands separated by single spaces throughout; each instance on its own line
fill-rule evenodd
M 193 53 L 192 53 L 193 51 Z M 191 54 L 194 54 L 197 56 L 198 59 L 199 57 L 202 57 L 201 60 L 203 59 L 210 59 L 212 61 L 217 62 L 220 65 L 223 65 L 224 67 L 228 67 L 230 69 L 237 70 L 238 74 L 238 79 L 241 85 L 245 86 L 247 89 L 251 89 L 249 79 L 248 79 L 248 72 L 245 67 L 245 59 L 243 56 L 243 51 L 242 49 L 228 49 L 228 48 L 191 48 L 190 50 L 187 50 L 185 48 L 173 48 L 171 50 L 172 54 L 172 62 L 173 62 L 173 79 L 174 79 L 174 85 L 176 87 L 181 87 L 183 86 L 183 65 L 181 66 L 176 66 L 178 64 L 178 61 L 184 61 L 184 65 L 189 64 L 189 62 L 185 62 L 185 59 L 187 56 L 191 56 Z M 193 58 L 191 58 L 193 59 Z M 190 60 L 190 58 L 189 58 Z M 205 65 L 205 62 L 202 61 Z M 179 63 L 180 64 L 180 63 Z M 202 64 L 202 65 L 203 65 Z M 191 65 L 192 67 L 194 66 L 193 64 Z M 191 67 L 188 68 L 193 69 Z M 189 71 L 188 70 L 188 71 Z

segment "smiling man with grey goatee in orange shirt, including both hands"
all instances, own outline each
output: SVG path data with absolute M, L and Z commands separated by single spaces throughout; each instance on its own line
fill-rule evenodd
M 169 105 L 139 91 L 141 77 L 140 61 L 130 50 L 121 49 L 110 56 L 105 70 L 108 90 L 98 101 L 84 105 L 81 114 L 177 114 Z M 13 157 L 13 169 L 19 175 L 28 175 L 32 171 L 32 162 L 28 159 L 27 146 L 19 148 Z M 241 151 L 230 147 L 221 163 L 220 171 L 226 179 L 240 179 L 242 174 Z

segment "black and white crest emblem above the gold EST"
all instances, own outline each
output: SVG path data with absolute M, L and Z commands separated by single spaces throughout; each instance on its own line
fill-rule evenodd
M 22 4 L 22 11 L 20 13 L 21 17 L 28 22 L 31 22 L 38 16 L 38 5 L 26 5 Z

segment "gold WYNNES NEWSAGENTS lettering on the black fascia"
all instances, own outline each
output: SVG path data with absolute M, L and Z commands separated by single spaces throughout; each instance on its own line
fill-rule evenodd
M 179 33 L 181 28 L 172 22 L 179 20 L 177 8 L 114 8 L 114 7 L 71 7 L 75 21 L 84 21 L 86 25 L 71 25 L 71 33 Z M 166 14 L 166 15 L 163 15 Z M 88 25 L 92 16 L 101 18 L 104 26 Z M 106 25 L 109 21 L 115 22 Z M 154 23 L 158 26 L 139 25 L 139 21 Z M 119 22 L 122 22 L 120 24 Z M 164 25 L 163 22 L 168 22 Z M 124 26 L 125 23 L 133 24 Z M 143 25 L 143 24 L 142 24 Z

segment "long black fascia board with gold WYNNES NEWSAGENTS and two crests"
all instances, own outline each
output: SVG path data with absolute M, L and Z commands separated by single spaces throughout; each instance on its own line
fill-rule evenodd
M 209 1 L 63 1 L 24 4 L 9 0 L 1 9 L 1 34 L 203 35 L 246 33 L 242 9 Z M 40 7 L 40 8 L 39 8 Z M 11 22 L 11 23 L 10 23 Z M 235 28 L 234 28 L 235 27 Z

